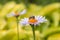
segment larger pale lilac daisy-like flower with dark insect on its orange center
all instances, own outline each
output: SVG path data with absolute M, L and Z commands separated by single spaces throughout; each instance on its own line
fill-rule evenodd
M 22 25 L 39 25 L 40 23 L 46 22 L 47 19 L 43 16 L 31 16 L 29 18 L 21 19 L 20 24 Z

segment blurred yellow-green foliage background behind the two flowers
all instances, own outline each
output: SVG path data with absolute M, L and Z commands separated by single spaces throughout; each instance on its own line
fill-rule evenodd
M 47 40 L 60 40 L 60 1 L 59 0 L 0 0 L 0 40 L 17 40 L 17 23 L 15 17 L 7 18 L 12 11 L 27 9 L 19 20 L 31 15 L 42 15 L 48 19 L 43 27 L 43 36 Z M 40 27 L 36 27 L 36 40 L 40 40 Z M 19 39 L 33 40 L 30 26 L 19 24 Z

